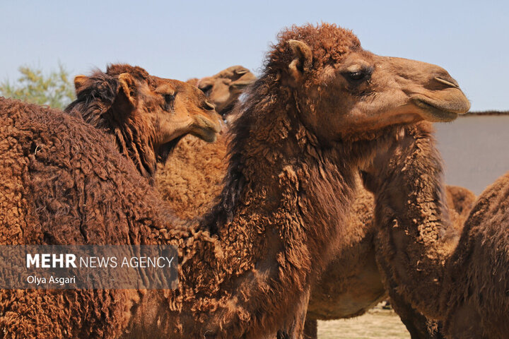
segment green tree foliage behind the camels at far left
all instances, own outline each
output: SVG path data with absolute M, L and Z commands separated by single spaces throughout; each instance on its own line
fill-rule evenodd
M 18 71 L 21 73 L 18 81 L 0 83 L 1 96 L 59 109 L 64 109 L 74 100 L 74 84 L 62 64 L 59 64 L 58 71 L 48 75 L 43 74 L 42 69 L 29 66 L 20 66 Z

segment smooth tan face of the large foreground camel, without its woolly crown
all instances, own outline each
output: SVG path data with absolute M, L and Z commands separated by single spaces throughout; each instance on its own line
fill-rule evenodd
M 322 98 L 316 112 L 324 114 L 316 118 L 330 130 L 328 138 L 420 120 L 452 121 L 470 108 L 447 71 L 419 61 L 351 52 L 321 76 L 310 97 Z

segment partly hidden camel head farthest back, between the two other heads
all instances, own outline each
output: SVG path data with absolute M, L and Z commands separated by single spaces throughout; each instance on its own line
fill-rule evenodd
M 199 79 L 197 86 L 209 100 L 216 105 L 216 110 L 221 115 L 229 112 L 233 102 L 238 100 L 242 91 L 256 81 L 256 76 L 242 66 L 231 66 L 214 76 Z

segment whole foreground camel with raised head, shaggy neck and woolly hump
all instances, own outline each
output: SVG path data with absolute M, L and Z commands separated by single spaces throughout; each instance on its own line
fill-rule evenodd
M 218 204 L 198 228 L 172 218 L 98 129 L 3 100 L 1 172 L 26 199 L 29 222 L 1 239 L 173 244 L 180 280 L 177 290 L 44 291 L 37 300 L 4 290 L 1 329 L 49 338 L 298 335 L 332 240 L 348 236 L 341 225 L 358 167 L 393 125 L 467 112 L 451 81 L 438 66 L 366 52 L 335 25 L 282 32 L 232 128 Z

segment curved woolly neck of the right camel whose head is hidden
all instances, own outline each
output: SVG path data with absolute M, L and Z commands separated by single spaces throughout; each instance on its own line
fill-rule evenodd
M 386 280 L 416 309 L 440 319 L 444 265 L 458 234 L 450 222 L 442 160 L 431 129 L 416 124 L 402 133 L 389 157 L 375 160 L 378 169 L 367 180 L 380 228 L 378 262 Z

